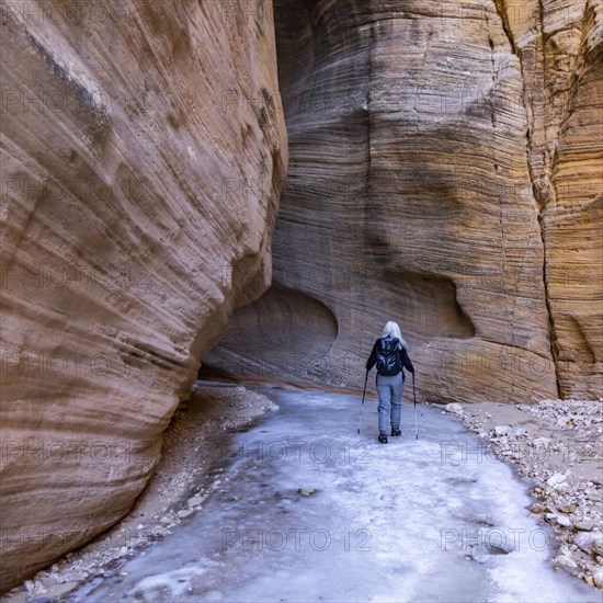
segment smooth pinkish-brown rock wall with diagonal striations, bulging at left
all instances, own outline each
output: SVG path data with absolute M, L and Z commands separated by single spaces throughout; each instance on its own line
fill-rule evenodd
M 272 4 L 1 4 L 4 589 L 117 521 L 236 306 L 286 166 Z

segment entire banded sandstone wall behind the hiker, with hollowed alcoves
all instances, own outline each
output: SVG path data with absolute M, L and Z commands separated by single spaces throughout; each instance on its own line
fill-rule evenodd
M 601 3 L 275 0 L 275 286 L 206 362 L 359 386 L 394 318 L 421 400 L 602 396 Z

